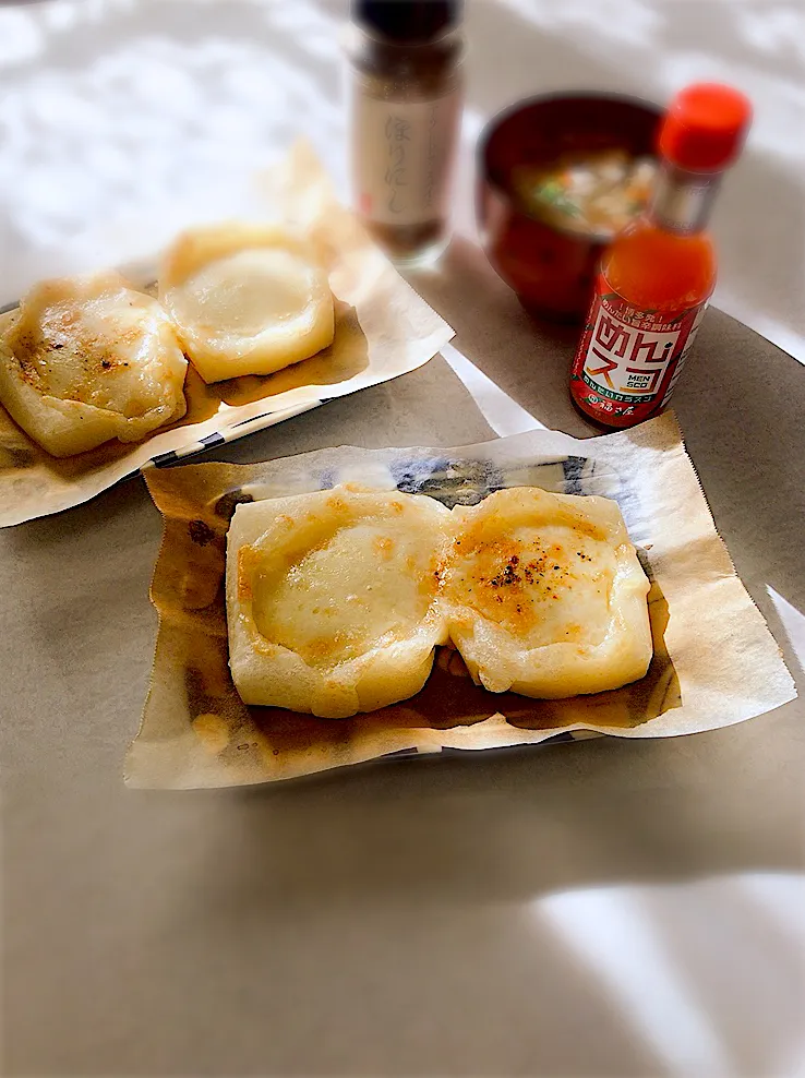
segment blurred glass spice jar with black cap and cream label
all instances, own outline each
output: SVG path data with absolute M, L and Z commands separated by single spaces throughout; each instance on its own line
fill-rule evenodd
M 400 267 L 449 242 L 462 0 L 353 0 L 347 53 L 356 208 Z

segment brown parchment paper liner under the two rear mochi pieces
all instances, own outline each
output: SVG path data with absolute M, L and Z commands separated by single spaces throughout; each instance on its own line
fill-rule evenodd
M 325 400 L 416 370 L 454 335 L 373 245 L 356 217 L 336 200 L 329 180 L 304 144 L 261 181 L 262 216 L 308 230 L 329 273 L 336 334 L 329 348 L 267 376 L 205 385 L 192 366 L 188 412 L 143 442 L 107 442 L 58 459 L 41 450 L 0 405 L 0 527 L 80 505 L 152 463 L 166 464 L 243 438 Z M 256 212 L 250 208 L 249 216 Z M 122 267 L 141 287 L 155 263 Z M 0 316 L 0 321 L 13 312 Z

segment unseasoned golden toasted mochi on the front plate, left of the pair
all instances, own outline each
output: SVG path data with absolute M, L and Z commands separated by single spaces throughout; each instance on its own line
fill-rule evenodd
M 447 640 L 450 525 L 430 498 L 350 486 L 239 505 L 227 621 L 243 700 L 344 718 L 418 693 Z

